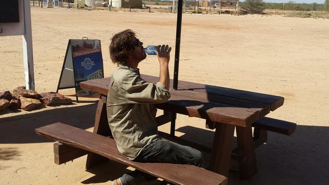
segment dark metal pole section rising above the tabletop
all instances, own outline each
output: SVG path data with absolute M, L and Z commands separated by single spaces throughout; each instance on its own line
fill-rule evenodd
M 178 87 L 178 67 L 179 67 L 179 52 L 180 52 L 180 47 L 181 47 L 182 14 L 183 14 L 183 0 L 178 0 L 175 65 L 174 65 L 174 84 L 173 84 L 174 90 L 176 90 Z

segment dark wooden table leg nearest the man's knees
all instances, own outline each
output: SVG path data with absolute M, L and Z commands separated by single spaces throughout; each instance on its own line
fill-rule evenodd
M 209 169 L 227 176 L 230 169 L 231 151 L 233 145 L 234 126 L 216 123 L 214 142 Z

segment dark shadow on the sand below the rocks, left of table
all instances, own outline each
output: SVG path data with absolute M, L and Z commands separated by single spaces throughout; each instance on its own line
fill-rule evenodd
M 94 126 L 97 104 L 54 108 L 41 112 L 0 118 L 0 144 L 53 142 L 38 136 L 34 129 L 62 122 L 78 128 Z

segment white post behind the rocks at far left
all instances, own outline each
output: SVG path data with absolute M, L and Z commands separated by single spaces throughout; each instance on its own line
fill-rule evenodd
M 26 89 L 35 90 L 34 87 L 34 68 L 33 68 L 33 48 L 32 48 L 32 26 L 31 26 L 31 8 L 30 0 L 23 0 L 25 34 L 23 41 L 23 59 Z

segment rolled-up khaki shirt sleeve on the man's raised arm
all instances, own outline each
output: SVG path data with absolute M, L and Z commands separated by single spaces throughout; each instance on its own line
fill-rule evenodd
M 128 104 L 136 103 L 164 103 L 170 98 L 170 92 L 161 82 L 156 84 L 148 83 L 139 75 L 128 74 L 122 80 L 126 102 Z

